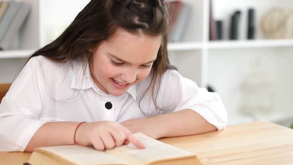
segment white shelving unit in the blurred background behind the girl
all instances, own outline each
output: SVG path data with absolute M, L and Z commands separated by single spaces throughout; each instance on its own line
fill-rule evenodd
M 21 70 L 26 59 L 38 48 L 46 45 L 69 24 L 89 0 L 23 0 L 32 5 L 32 11 L 18 35 L 20 50 L 0 52 L 0 83 L 9 83 Z M 293 121 L 293 40 L 268 40 L 261 30 L 261 16 L 271 7 L 293 6 L 292 0 L 213 0 L 215 19 L 222 19 L 224 40 L 209 41 L 209 0 L 183 0 L 192 9 L 183 41 L 169 43 L 170 62 L 184 76 L 199 86 L 212 85 L 219 92 L 227 109 L 229 122 L 236 124 L 267 120 Z M 71 4 L 68 7 L 68 4 Z M 256 40 L 245 40 L 248 7 L 256 9 Z M 66 12 L 64 12 L 66 8 Z M 238 41 L 227 40 L 228 18 L 240 9 Z M 268 114 L 243 115 L 241 113 L 241 84 L 260 61 L 266 74 L 273 78 L 274 99 Z M 10 69 L 14 66 L 13 69 Z M 291 91 L 291 92 L 288 92 Z

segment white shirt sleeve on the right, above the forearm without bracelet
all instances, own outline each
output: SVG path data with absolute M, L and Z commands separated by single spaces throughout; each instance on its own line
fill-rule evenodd
M 163 113 L 194 110 L 218 130 L 225 128 L 227 123 L 227 113 L 219 94 L 199 88 L 176 70 L 168 70 L 162 76 L 157 104 Z

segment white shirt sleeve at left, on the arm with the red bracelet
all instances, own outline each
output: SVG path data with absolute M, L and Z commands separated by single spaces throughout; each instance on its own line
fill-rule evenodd
M 32 58 L 11 84 L 0 103 L 0 151 L 23 152 L 34 133 L 45 121 L 40 88 L 43 73 L 36 58 Z

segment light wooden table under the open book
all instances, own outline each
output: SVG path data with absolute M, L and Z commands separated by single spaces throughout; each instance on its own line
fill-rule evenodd
M 268 122 L 160 141 L 196 153 L 204 165 L 293 165 L 293 130 Z M 22 165 L 29 156 L 0 152 L 0 164 Z

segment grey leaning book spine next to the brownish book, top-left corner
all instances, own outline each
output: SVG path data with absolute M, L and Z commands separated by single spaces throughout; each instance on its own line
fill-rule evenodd
M 3 39 L 10 23 L 12 22 L 20 4 L 16 1 L 9 1 L 8 8 L 0 22 L 0 41 Z

